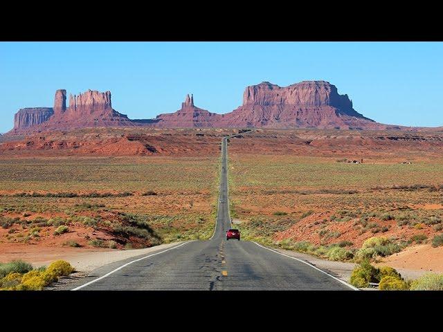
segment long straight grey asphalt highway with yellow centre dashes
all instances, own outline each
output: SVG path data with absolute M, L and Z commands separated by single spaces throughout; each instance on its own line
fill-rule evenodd
M 251 241 L 226 241 L 228 137 L 221 143 L 217 221 L 207 241 L 179 243 L 167 250 L 132 257 L 94 270 L 77 290 L 351 290 L 344 282 L 302 261 Z

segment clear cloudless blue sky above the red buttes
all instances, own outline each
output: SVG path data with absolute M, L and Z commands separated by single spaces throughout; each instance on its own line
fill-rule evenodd
M 390 124 L 442 126 L 442 42 L 0 42 L 0 133 L 56 89 L 112 93 L 129 118 L 195 104 L 226 113 L 244 88 L 326 80 L 354 109 Z

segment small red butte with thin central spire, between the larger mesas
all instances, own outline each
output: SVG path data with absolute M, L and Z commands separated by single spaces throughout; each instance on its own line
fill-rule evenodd
M 220 114 L 195 107 L 194 96 L 186 95 L 185 102 L 181 103 L 181 109 L 174 113 L 160 114 L 151 125 L 159 128 L 214 127 L 221 118 Z

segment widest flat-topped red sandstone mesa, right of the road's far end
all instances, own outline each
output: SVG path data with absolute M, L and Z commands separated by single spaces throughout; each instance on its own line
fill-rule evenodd
M 386 126 L 352 108 L 347 95 L 325 81 L 305 81 L 280 87 L 269 82 L 248 86 L 243 105 L 224 115 L 221 127 L 361 128 Z

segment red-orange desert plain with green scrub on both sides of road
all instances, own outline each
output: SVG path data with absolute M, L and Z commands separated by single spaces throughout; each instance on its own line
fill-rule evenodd
M 209 239 L 221 138 L 232 133 L 230 211 L 244 239 L 347 260 L 327 257 L 328 248 L 354 256 L 384 237 L 379 263 L 443 272 L 443 247 L 433 247 L 443 232 L 438 129 L 108 127 L 1 137 L 0 261 Z

